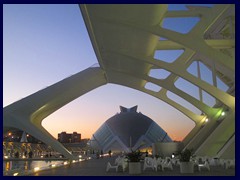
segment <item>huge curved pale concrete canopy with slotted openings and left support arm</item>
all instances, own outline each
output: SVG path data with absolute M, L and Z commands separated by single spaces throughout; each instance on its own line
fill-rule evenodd
M 166 4 L 80 5 L 100 68 L 86 69 L 5 107 L 4 126 L 27 131 L 72 158 L 41 126 L 41 121 L 84 93 L 106 83 L 116 83 L 155 96 L 191 118 L 196 127 L 185 138 L 186 147 L 196 149 L 201 145 L 196 152 L 205 155 L 216 155 L 224 146 L 227 150 L 226 142 L 235 134 L 235 40 L 232 36 L 235 32 L 229 32 L 234 29 L 235 19 L 226 19 L 235 17 L 234 5 L 189 7 L 188 11 L 167 11 L 167 7 Z M 189 33 L 181 34 L 161 27 L 167 17 L 199 17 L 200 21 Z M 223 35 L 219 38 L 214 36 L 216 34 Z M 167 40 L 160 40 L 160 37 Z M 184 52 L 173 63 L 153 57 L 155 51 L 165 49 L 182 49 Z M 224 92 L 188 73 L 187 67 L 196 58 L 209 67 L 213 75 L 218 75 L 232 91 Z M 149 76 L 151 69 L 165 69 L 171 74 L 159 80 Z M 179 77 L 209 93 L 219 103 L 209 107 L 176 88 L 174 83 Z M 145 88 L 147 82 L 161 86 L 162 89 L 158 92 L 148 90 Z M 197 115 L 169 99 L 167 91 L 187 100 L 205 115 Z M 223 122 L 228 120 L 230 125 L 221 123 L 218 126 L 214 122 L 223 109 L 228 109 L 228 116 Z M 206 116 L 212 121 L 202 128 Z M 225 129 L 227 133 L 221 133 Z M 196 137 L 198 142 L 194 141 Z M 216 147 L 218 137 L 221 143 Z M 232 144 L 228 146 L 233 147 Z

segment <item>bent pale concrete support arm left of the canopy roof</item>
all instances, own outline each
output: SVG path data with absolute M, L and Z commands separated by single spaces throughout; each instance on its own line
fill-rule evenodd
M 101 68 L 88 68 L 4 107 L 3 127 L 26 131 L 72 159 L 71 153 L 41 123 L 62 106 L 106 83 L 105 73 Z

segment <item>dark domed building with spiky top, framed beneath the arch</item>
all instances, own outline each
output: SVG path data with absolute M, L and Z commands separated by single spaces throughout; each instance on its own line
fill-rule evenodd
M 149 147 L 155 142 L 172 142 L 167 133 L 152 119 L 137 112 L 137 106 L 125 108 L 105 121 L 93 134 L 89 145 L 107 152 Z

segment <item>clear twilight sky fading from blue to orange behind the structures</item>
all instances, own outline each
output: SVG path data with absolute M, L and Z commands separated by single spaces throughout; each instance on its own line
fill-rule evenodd
M 169 9 L 185 8 L 170 5 Z M 3 107 L 95 63 L 97 59 L 78 5 L 3 5 Z M 194 74 L 194 68 L 193 64 L 189 72 Z M 209 81 L 211 72 L 204 67 L 203 71 L 202 78 Z M 198 96 L 198 89 L 188 88 L 183 80 L 179 79 L 176 85 Z M 177 99 L 172 94 L 169 97 Z M 208 95 L 204 101 L 213 105 Z M 182 140 L 194 127 L 188 117 L 165 102 L 114 84 L 101 86 L 72 101 L 44 119 L 43 126 L 54 137 L 62 131 L 77 131 L 82 138 L 90 138 L 103 122 L 120 111 L 120 105 L 138 105 L 138 111 L 158 123 L 173 140 Z M 199 110 L 193 111 L 200 114 Z

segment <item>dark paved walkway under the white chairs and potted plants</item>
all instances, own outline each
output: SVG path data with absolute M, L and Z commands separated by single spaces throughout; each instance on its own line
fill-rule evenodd
M 103 159 L 91 159 L 88 161 L 82 161 L 79 163 L 74 163 L 69 166 L 63 166 L 55 169 L 49 169 L 41 172 L 36 172 L 32 174 L 33 176 L 131 176 L 127 172 L 119 172 L 111 169 L 106 172 L 106 165 L 109 161 L 111 164 L 114 163 L 116 157 L 105 157 Z M 143 166 L 143 165 L 142 165 Z M 212 167 L 211 171 L 195 171 L 194 174 L 181 174 L 180 168 L 174 166 L 173 171 L 166 170 L 162 171 L 152 171 L 147 169 L 143 171 L 139 176 L 235 176 L 235 169 L 223 169 L 222 167 Z

